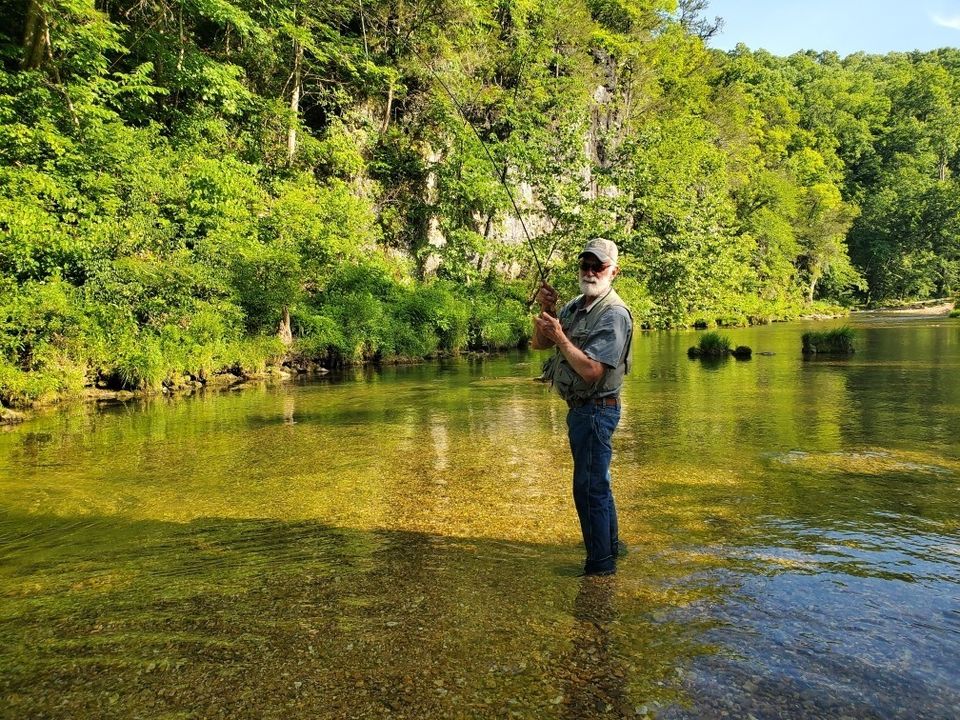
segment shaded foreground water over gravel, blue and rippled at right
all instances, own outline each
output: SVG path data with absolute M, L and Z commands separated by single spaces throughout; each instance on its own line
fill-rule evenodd
M 582 579 L 565 545 L 4 513 L 0 715 L 950 717 L 956 638 L 885 639 L 949 597 L 868 535 L 750 535 Z

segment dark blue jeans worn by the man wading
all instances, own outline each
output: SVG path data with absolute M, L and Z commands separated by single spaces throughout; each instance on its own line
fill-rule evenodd
M 617 506 L 613 501 L 611 439 L 620 422 L 620 406 L 570 408 L 567 435 L 573 453 L 573 502 L 587 550 L 588 573 L 614 569 L 618 549 Z

